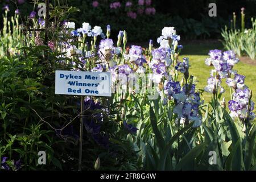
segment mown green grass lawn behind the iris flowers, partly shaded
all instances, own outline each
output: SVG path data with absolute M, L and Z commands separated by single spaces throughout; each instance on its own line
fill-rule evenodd
M 189 63 L 191 64 L 189 73 L 197 77 L 197 80 L 199 81 L 197 84 L 197 89 L 204 89 L 204 86 L 207 84 L 207 78 L 210 77 L 210 69 L 213 69 L 213 67 L 208 67 L 205 65 L 204 60 L 208 57 L 208 52 L 210 49 L 223 49 L 222 44 L 187 43 L 183 46 L 184 49 L 181 57 L 189 57 Z M 256 102 L 256 66 L 240 62 L 234 66 L 234 69 L 236 69 L 239 74 L 246 76 L 245 84 L 253 91 L 253 101 Z M 226 90 L 224 97 L 226 98 L 226 101 L 229 101 L 229 87 L 226 85 L 224 80 L 222 81 L 222 86 L 224 86 Z M 204 100 L 208 102 L 211 94 L 204 93 L 203 97 Z

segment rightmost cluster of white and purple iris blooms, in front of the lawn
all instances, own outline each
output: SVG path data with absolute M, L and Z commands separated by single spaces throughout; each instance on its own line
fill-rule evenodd
M 213 66 L 214 69 L 211 71 L 211 77 L 208 78 L 208 85 L 204 90 L 213 94 L 216 94 L 218 90 L 224 93 L 221 82 L 226 79 L 226 84 L 233 91 L 232 100 L 228 102 L 230 116 L 240 119 L 243 123 L 253 121 L 255 114 L 253 113 L 254 102 L 251 100 L 252 92 L 245 85 L 245 76 L 239 75 L 233 69 L 234 65 L 239 62 L 235 53 L 215 49 L 209 52 L 209 56 L 205 64 Z

